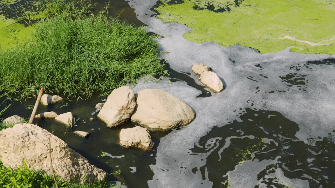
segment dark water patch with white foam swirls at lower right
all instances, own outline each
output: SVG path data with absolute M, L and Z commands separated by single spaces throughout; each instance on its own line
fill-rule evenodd
M 332 138 L 319 137 L 315 146 L 305 144 L 295 137 L 298 124 L 276 111 L 246 108 L 239 118 L 241 120 L 222 127 L 213 127 L 200 138 L 199 145 L 191 149 L 191 155 L 207 156 L 206 165 L 200 171 L 205 177 L 204 169 L 207 169 L 214 188 L 222 187 L 221 182 L 228 181 L 226 174 L 234 171 L 236 165 L 255 159 L 274 160 L 258 174 L 259 182 L 268 188 L 284 187 L 280 177 L 273 177 L 277 168 L 288 179 L 307 180 L 311 188 L 335 185 L 335 144 Z M 263 142 L 263 138 L 268 143 Z M 277 157 L 280 158 L 275 161 Z

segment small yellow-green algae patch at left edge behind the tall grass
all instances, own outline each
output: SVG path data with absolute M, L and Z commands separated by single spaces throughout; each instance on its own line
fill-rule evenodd
M 25 27 L 13 19 L 5 19 L 0 15 L 0 49 L 14 46 L 18 40 L 26 40 L 30 37 L 33 26 Z

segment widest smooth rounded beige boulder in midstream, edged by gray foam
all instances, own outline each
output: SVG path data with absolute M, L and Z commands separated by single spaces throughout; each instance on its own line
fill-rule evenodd
M 189 124 L 195 117 L 193 109 L 177 97 L 160 89 L 138 92 L 137 106 L 131 120 L 149 130 L 169 130 Z

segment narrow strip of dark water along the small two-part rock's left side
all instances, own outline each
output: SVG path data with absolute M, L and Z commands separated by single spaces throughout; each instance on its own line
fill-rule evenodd
M 177 82 L 179 80 L 185 81 L 187 83 L 187 85 L 201 91 L 201 94 L 198 95 L 197 97 L 210 97 L 212 96 L 211 92 L 209 92 L 208 90 L 204 89 L 205 87 L 202 85 L 198 85 L 195 80 L 193 78 L 191 78 L 189 75 L 191 75 L 191 73 L 187 72 L 187 73 L 181 73 L 181 72 L 177 72 L 173 69 L 171 69 L 169 63 L 167 63 L 164 60 L 160 60 L 161 64 L 164 64 L 164 68 L 169 71 L 169 78 L 171 82 Z M 159 75 L 156 75 L 157 79 L 159 79 Z

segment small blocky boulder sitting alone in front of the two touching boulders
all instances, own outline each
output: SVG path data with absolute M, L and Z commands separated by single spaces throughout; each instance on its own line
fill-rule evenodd
M 152 149 L 151 136 L 146 128 L 140 126 L 123 128 L 119 138 L 120 144 L 125 148 L 138 148 L 144 151 Z

